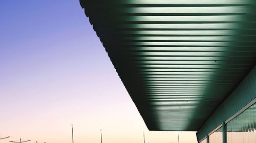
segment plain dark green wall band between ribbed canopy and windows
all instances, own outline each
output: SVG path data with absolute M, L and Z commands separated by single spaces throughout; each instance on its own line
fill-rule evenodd
M 256 99 L 256 66 L 197 132 L 198 141 Z

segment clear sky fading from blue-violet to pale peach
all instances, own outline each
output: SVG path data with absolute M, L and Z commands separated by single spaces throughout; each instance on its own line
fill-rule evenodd
M 148 131 L 79 1 L 0 1 L 2 142 L 176 143 Z M 180 132 L 195 143 L 196 132 Z

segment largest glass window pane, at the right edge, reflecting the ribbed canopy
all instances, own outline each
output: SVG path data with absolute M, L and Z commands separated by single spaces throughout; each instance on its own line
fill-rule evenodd
M 256 103 L 227 123 L 227 143 L 256 142 Z

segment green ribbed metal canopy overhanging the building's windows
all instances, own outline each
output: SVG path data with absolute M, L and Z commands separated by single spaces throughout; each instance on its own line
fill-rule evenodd
M 255 65 L 253 0 L 80 4 L 150 130 L 197 131 Z

